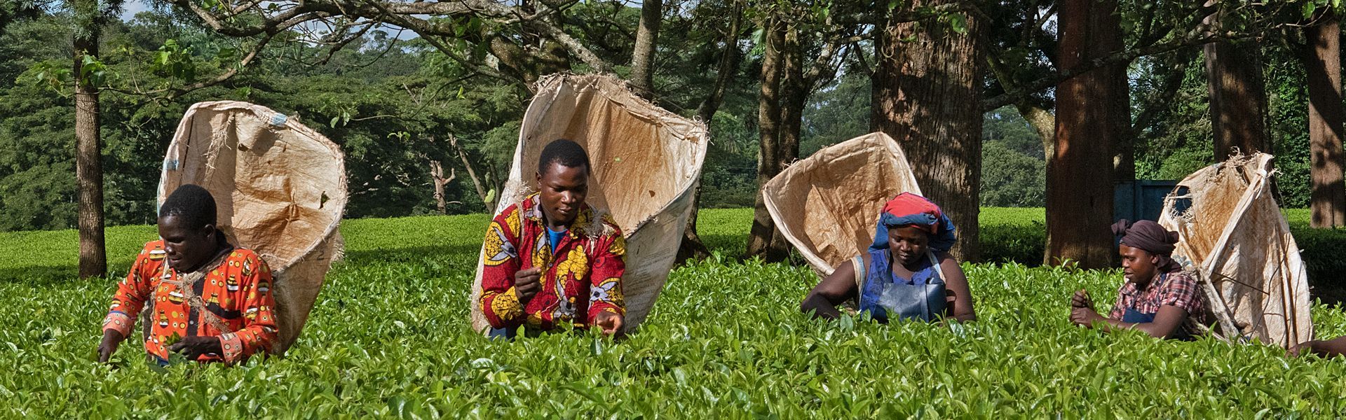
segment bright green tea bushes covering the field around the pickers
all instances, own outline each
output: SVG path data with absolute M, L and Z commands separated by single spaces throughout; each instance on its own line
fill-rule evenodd
M 1069 293 L 1086 288 L 1110 302 L 1117 271 L 969 264 L 976 323 L 810 320 L 797 311 L 817 281 L 809 269 L 734 258 L 750 218 L 751 210 L 703 211 L 701 234 L 716 256 L 674 269 L 650 318 L 621 342 L 590 332 L 503 342 L 470 331 L 485 215 L 349 221 L 346 260 L 285 358 L 168 373 L 151 370 L 135 342 L 112 366 L 93 362 L 116 280 L 66 272 L 73 232 L 0 234 L 0 417 L 1346 413 L 1346 359 L 1070 326 Z M 112 264 L 124 272 L 153 229 L 109 234 Z M 1346 334 L 1341 308 L 1312 312 L 1319 335 Z

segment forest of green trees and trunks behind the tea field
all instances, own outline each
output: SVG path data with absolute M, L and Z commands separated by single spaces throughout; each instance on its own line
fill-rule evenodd
M 1315 226 L 1339 226 L 1346 207 L 1331 193 L 1342 32 L 1329 0 L 145 5 L 121 19 L 122 1 L 0 1 L 0 230 L 152 223 L 163 151 L 186 108 L 211 100 L 273 108 L 339 144 L 349 218 L 486 213 L 530 83 L 556 71 L 612 73 L 708 121 L 703 209 L 760 207 L 783 166 L 876 129 L 973 226 L 965 244 L 977 206 L 1047 207 L 1049 230 L 1079 232 L 1102 223 L 1113 182 L 1180 179 L 1234 148 L 1276 153 L 1279 201 L 1323 203 Z M 1326 102 L 1311 86 L 1333 71 L 1327 123 L 1314 123 L 1310 102 Z M 81 98 L 96 118 L 81 120 Z M 1312 124 L 1337 125 L 1327 182 L 1312 180 Z M 1079 152 L 1057 153 L 1067 144 Z M 78 171 L 90 152 L 97 176 Z M 94 191 L 101 207 L 81 199 Z M 101 209 L 97 225 L 81 203 Z M 758 213 L 748 253 L 778 260 L 783 240 Z M 1049 260 L 1110 258 L 1097 233 L 1050 241 Z

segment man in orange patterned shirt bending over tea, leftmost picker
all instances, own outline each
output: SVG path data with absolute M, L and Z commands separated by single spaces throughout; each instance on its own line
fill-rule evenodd
M 108 361 L 145 311 L 145 351 L 159 363 L 168 353 L 234 363 L 276 339 L 271 269 L 249 249 L 215 230 L 215 202 L 194 184 L 175 190 L 159 209 L 162 240 L 145 244 L 117 283 L 98 346 Z M 175 338 L 179 341 L 174 342 Z

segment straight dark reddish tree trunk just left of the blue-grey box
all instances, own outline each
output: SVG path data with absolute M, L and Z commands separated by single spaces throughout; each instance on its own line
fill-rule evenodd
M 1113 0 L 1058 3 L 1061 69 L 1121 47 Z M 1047 264 L 1073 260 L 1081 268 L 1112 264 L 1113 143 L 1120 104 L 1113 97 L 1124 69 L 1106 66 L 1057 85 L 1057 144 L 1047 166 Z

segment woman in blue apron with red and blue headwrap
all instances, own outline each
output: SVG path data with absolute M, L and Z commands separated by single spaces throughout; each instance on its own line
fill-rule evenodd
M 836 319 L 837 306 L 856 307 L 879 322 L 891 319 L 975 320 L 972 293 L 958 260 L 953 222 L 930 201 L 903 193 L 879 213 L 874 245 L 839 264 L 804 299 L 800 310 Z

